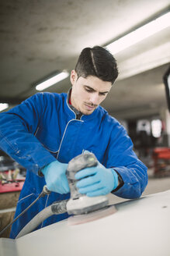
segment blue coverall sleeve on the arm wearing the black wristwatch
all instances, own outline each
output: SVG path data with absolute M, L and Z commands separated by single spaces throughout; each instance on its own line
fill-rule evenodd
M 134 144 L 123 126 L 116 126 L 108 147 L 107 168 L 113 167 L 123 179 L 123 186 L 113 194 L 124 198 L 141 197 L 147 186 L 147 167 L 133 151 Z

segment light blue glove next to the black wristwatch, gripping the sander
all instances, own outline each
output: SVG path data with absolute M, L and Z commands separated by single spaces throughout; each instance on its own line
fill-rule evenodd
M 77 172 L 75 179 L 79 180 L 76 184 L 78 191 L 88 197 L 109 194 L 118 186 L 117 173 L 113 169 L 106 169 L 100 163 Z

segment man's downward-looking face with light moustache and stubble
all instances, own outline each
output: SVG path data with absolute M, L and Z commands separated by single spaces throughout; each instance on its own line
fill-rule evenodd
M 84 115 L 90 115 L 106 98 L 112 84 L 96 76 L 78 78 L 75 70 L 71 71 L 71 105 Z

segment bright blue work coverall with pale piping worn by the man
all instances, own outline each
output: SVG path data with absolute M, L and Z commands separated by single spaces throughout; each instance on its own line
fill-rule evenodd
M 38 93 L 1 113 L 0 148 L 27 169 L 15 217 L 43 190 L 45 180 L 39 174 L 44 165 L 56 159 L 68 163 L 84 150 L 93 152 L 102 165 L 119 173 L 123 184 L 112 191 L 116 196 L 140 197 L 147 185 L 147 168 L 135 155 L 123 126 L 101 106 L 91 115 L 76 119 L 68 94 Z M 69 196 L 52 192 L 40 198 L 12 225 L 10 237 L 15 238 L 43 208 Z M 67 213 L 53 215 L 38 228 L 66 218 Z

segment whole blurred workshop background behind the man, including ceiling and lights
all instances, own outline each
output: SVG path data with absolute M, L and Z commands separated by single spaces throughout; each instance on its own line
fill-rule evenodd
M 104 46 L 120 74 L 102 106 L 126 127 L 148 167 L 144 195 L 169 190 L 169 13 L 169 0 L 1 0 L 0 111 L 38 91 L 68 92 L 82 49 Z M 52 77 L 53 85 L 43 83 Z M 25 176 L 0 151 L 1 229 L 13 218 Z

